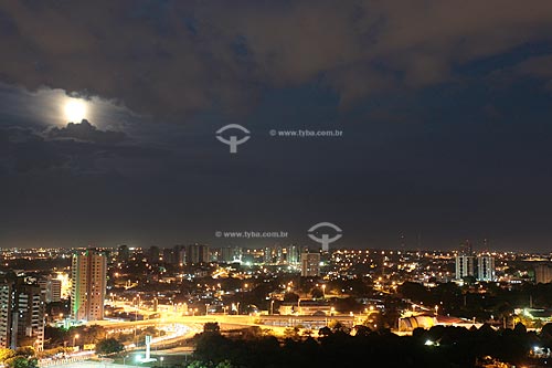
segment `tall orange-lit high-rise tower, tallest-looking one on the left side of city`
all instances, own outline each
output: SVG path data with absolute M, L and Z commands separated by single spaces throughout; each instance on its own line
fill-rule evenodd
M 73 254 L 71 266 L 71 316 L 75 320 L 104 319 L 107 257 L 102 251 Z

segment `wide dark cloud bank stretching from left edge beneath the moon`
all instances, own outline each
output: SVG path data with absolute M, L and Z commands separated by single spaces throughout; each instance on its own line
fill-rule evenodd
M 3 158 L 0 165 L 12 172 L 128 172 L 125 170 L 129 165 L 138 165 L 147 171 L 146 162 L 169 155 L 166 149 L 136 143 L 123 144 L 124 140 L 124 133 L 100 130 L 87 120 L 45 132 L 9 127 L 0 129 L 0 153 Z

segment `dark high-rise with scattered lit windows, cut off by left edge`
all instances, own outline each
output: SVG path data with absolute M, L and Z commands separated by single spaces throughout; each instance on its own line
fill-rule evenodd
M 0 347 L 44 346 L 45 290 L 23 278 L 0 283 Z

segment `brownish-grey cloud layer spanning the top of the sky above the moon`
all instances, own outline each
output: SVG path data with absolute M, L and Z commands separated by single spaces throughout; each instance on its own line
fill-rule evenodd
M 9 2 L 0 19 L 9 30 L 1 81 L 97 94 L 169 118 L 241 112 L 266 87 L 309 81 L 335 88 L 343 106 L 454 81 L 457 65 L 546 39 L 552 3 Z

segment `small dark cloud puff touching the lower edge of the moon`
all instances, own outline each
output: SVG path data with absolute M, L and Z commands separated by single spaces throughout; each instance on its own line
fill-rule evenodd
M 106 145 L 118 144 L 125 140 L 123 132 L 99 130 L 86 119 L 77 124 L 68 123 L 63 128 L 54 127 L 47 133 L 47 136 L 49 138 L 74 138 Z

